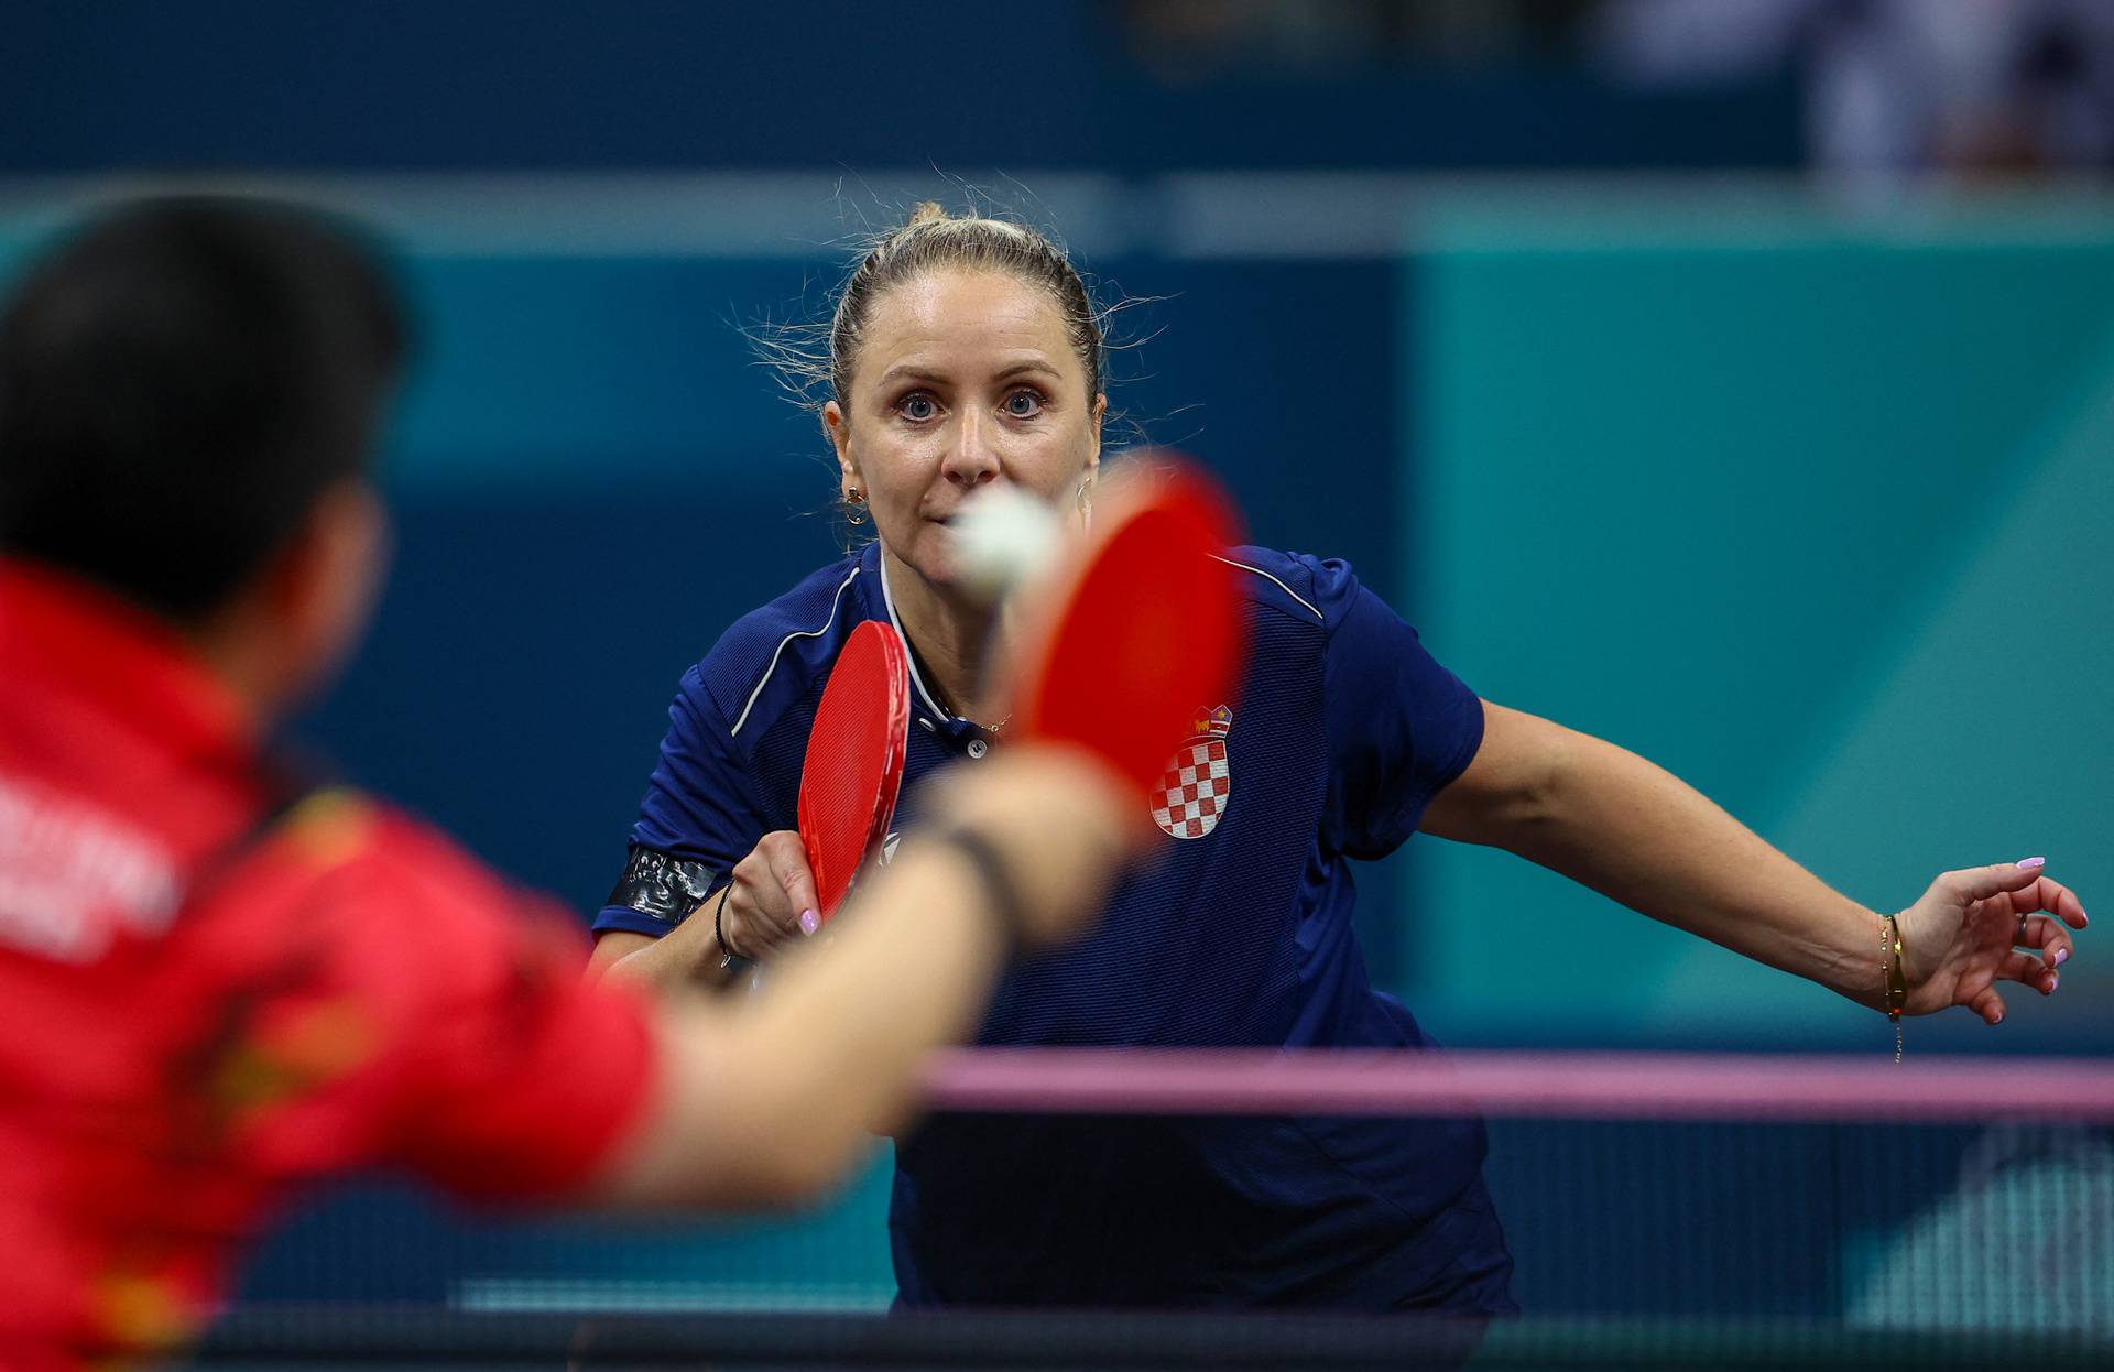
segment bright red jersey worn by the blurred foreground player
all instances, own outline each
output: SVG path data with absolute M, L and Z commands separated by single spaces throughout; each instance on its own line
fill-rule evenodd
M 273 805 L 152 619 L 0 562 L 0 1366 L 156 1353 L 304 1180 L 556 1197 L 641 1114 L 643 1006 L 442 835 Z

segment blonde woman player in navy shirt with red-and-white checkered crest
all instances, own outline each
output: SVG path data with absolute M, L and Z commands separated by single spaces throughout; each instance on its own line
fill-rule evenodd
M 602 966 L 712 979 L 814 932 L 795 793 L 852 626 L 886 619 L 911 647 L 907 810 L 943 765 L 1004 748 L 1008 704 L 977 674 L 994 617 L 966 594 L 947 520 L 987 484 L 1089 507 L 1097 311 L 1042 235 L 924 205 L 858 262 L 827 338 L 820 419 L 875 539 L 685 674 L 628 875 L 596 920 Z M 1152 805 L 1165 852 L 1087 943 L 1008 975 L 983 1042 L 1421 1046 L 1368 985 L 1349 867 L 1416 829 L 1509 848 L 1875 1008 L 1892 981 L 1911 1015 L 1960 1004 L 1996 1023 L 1996 981 L 2055 989 L 2061 922 L 2084 913 L 2038 860 L 1939 877 L 1898 915 L 1896 956 L 1896 926 L 1676 778 L 1478 700 L 1342 562 L 1228 560 L 1249 668 L 1237 696 L 1197 702 L 1186 772 Z M 685 922 L 693 909 L 706 917 Z M 1476 1123 L 943 1118 L 896 1150 L 901 1298 L 1505 1313 L 1482 1154 Z

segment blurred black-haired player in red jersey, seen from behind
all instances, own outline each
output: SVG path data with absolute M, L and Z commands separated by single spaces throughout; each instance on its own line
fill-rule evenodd
M 118 209 L 0 317 L 6 1366 L 182 1345 L 288 1190 L 345 1169 L 810 1197 L 1123 856 L 1123 793 L 1015 748 L 769 996 L 583 985 L 562 911 L 262 746 L 366 617 L 400 359 L 359 243 L 264 203 Z

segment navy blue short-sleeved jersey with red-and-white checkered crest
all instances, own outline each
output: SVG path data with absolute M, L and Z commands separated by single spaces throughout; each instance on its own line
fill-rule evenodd
M 1351 858 L 1378 858 L 1482 742 L 1478 698 L 1336 560 L 1239 548 L 1249 664 L 1197 702 L 1154 797 L 1163 852 L 1082 943 L 1002 979 L 983 1044 L 1427 1046 L 1372 989 Z M 683 676 L 634 850 L 712 882 L 793 829 L 808 727 L 879 548 L 744 615 Z M 911 683 L 920 782 L 1004 746 Z M 693 869 L 696 871 L 696 869 Z M 634 905 L 594 924 L 664 934 Z M 937 1116 L 896 1144 L 905 1304 L 1512 1309 L 1478 1120 Z

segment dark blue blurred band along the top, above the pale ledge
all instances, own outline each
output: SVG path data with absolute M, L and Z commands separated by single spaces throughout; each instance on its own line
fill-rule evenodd
M 1142 61 L 1125 0 L 15 0 L 0 169 L 1788 167 L 1795 87 Z

